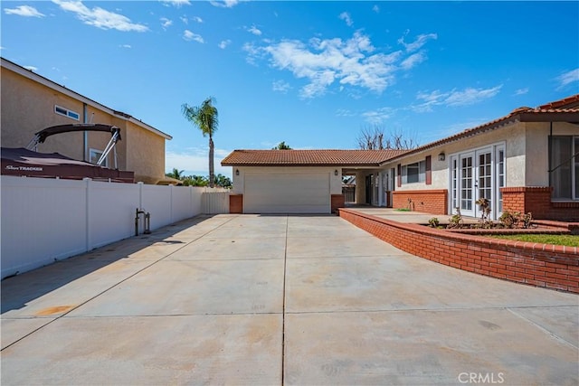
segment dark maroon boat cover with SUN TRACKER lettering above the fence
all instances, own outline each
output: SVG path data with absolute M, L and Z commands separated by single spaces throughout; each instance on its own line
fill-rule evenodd
M 49 127 L 50 128 L 50 127 Z M 135 173 L 109 169 L 59 153 L 38 153 L 24 147 L 2 147 L 3 175 L 134 183 Z

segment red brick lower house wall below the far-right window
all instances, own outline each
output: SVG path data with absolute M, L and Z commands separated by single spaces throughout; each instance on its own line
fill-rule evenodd
M 579 221 L 579 202 L 551 202 L 550 187 L 518 186 L 500 191 L 506 211 L 531 212 L 534 219 Z

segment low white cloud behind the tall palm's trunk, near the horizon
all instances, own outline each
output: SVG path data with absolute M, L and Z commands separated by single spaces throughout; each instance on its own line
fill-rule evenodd
M 230 150 L 215 149 L 214 163 L 215 174 L 223 174 L 231 177 L 232 167 L 222 166 L 221 162 Z M 183 152 L 167 151 L 165 155 L 166 172 L 171 172 L 173 168 L 185 170 L 185 175 L 209 175 L 209 150 L 206 147 L 195 147 Z

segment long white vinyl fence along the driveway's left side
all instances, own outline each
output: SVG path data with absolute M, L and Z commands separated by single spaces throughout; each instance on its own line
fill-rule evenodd
M 134 236 L 137 208 L 150 213 L 151 231 L 229 212 L 223 189 L 8 175 L 0 182 L 2 278 Z

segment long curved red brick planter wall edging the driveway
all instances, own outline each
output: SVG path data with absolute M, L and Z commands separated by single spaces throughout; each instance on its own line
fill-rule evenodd
M 579 250 L 457 234 L 340 209 L 339 215 L 398 249 L 454 268 L 579 293 Z

